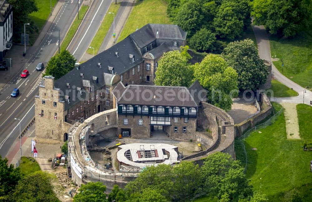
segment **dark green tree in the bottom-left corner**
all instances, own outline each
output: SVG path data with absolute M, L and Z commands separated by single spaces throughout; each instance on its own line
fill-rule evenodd
M 8 200 L 10 193 L 21 179 L 20 169 L 14 168 L 13 164 L 7 165 L 7 158 L 0 155 L 0 201 Z

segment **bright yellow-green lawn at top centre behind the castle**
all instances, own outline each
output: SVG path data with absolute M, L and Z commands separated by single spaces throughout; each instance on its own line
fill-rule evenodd
M 141 28 L 148 23 L 172 24 L 166 16 L 167 4 L 163 0 L 138 1 L 128 17 L 126 25 L 118 37 L 117 42 L 126 38 L 136 28 Z

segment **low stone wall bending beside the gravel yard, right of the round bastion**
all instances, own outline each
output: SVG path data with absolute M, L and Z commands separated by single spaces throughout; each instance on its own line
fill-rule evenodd
M 272 105 L 266 94 L 261 93 L 261 112 L 251 117 L 250 119 L 244 120 L 239 124 L 235 124 L 235 137 L 241 137 L 244 131 L 248 128 L 253 128 L 260 121 L 264 120 L 266 117 L 272 113 Z

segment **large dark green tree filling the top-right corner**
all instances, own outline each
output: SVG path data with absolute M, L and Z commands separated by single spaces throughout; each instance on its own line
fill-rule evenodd
M 256 25 L 266 25 L 271 34 L 285 37 L 297 35 L 311 16 L 309 0 L 254 0 L 251 6 Z

